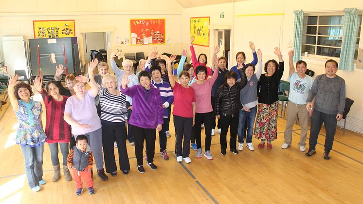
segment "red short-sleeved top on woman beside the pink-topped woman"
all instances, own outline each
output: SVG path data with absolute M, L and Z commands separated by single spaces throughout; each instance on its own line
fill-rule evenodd
M 181 84 L 175 83 L 174 93 L 174 109 L 173 115 L 180 117 L 193 117 L 193 102 L 195 102 L 195 93 L 192 87 L 185 88 Z

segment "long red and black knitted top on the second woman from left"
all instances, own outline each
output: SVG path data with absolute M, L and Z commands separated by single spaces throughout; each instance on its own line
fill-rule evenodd
M 62 101 L 56 101 L 44 89 L 39 92 L 43 98 L 45 109 L 47 111 L 47 122 L 45 125 L 45 134 L 47 143 L 68 143 L 71 138 L 71 128 L 63 119 L 64 107 L 66 106 L 67 96 L 63 96 Z

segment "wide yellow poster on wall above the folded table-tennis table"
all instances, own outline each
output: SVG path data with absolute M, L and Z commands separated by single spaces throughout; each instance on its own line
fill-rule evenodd
M 34 38 L 74 37 L 74 20 L 33 20 Z

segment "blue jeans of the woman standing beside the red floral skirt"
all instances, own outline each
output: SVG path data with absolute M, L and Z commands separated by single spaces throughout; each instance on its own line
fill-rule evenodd
M 241 109 L 239 111 L 239 123 L 238 123 L 238 142 L 244 143 L 243 137 L 245 136 L 245 132 L 243 131 L 245 121 L 247 119 L 247 138 L 246 143 L 252 143 L 252 135 L 254 133 L 254 120 L 256 119 L 257 106 L 250 109 L 250 112 L 244 111 Z

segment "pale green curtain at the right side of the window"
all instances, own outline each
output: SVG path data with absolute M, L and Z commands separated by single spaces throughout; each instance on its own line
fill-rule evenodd
M 343 41 L 339 59 L 339 70 L 353 71 L 354 51 L 358 36 L 358 9 L 344 9 Z

